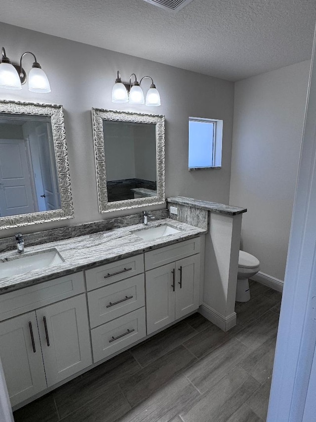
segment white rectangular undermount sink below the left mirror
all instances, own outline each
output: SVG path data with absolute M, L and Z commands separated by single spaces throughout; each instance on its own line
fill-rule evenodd
M 55 248 L 11 256 L 0 260 L 0 279 L 58 265 L 62 262 L 64 259 Z

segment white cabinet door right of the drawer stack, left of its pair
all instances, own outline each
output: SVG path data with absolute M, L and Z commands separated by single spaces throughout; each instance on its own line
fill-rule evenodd
M 175 320 L 174 263 L 146 272 L 147 334 Z

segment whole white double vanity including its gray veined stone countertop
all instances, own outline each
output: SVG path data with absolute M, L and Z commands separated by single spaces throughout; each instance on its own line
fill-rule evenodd
M 62 258 L 0 279 L 0 357 L 12 406 L 196 311 L 205 233 L 163 219 L 0 254 L 2 268 L 40 261 L 47 249 Z

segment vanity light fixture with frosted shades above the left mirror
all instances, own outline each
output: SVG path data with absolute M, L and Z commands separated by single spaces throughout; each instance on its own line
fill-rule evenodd
M 21 55 L 20 65 L 12 64 L 11 60 L 6 56 L 4 47 L 2 47 L 0 63 L 0 88 L 7 90 L 22 89 L 22 85 L 27 80 L 25 70 L 22 67 L 22 59 L 26 54 L 32 54 L 35 60 L 29 72 L 29 91 L 33 93 L 50 93 L 47 76 L 40 67 L 35 55 L 31 51 L 26 51 Z

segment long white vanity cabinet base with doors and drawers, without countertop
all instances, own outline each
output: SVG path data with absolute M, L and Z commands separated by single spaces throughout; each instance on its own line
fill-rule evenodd
M 196 237 L 0 295 L 12 406 L 195 311 L 199 252 Z

